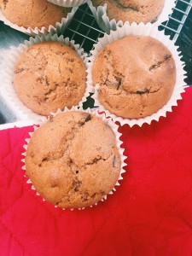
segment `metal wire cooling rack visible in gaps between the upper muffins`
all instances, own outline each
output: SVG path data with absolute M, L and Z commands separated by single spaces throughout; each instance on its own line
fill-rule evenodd
M 163 23 L 159 29 L 165 29 L 166 35 L 170 35 L 171 39 L 177 40 L 191 7 L 192 0 L 177 0 L 170 19 Z M 101 38 L 103 34 L 104 32 L 97 25 L 87 4 L 79 7 L 65 31 L 65 36 L 75 40 L 87 53 L 90 52 L 93 44 L 96 44 L 97 39 Z

